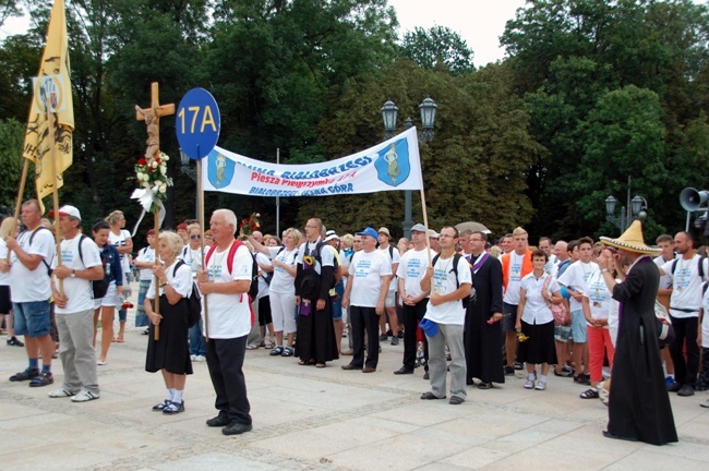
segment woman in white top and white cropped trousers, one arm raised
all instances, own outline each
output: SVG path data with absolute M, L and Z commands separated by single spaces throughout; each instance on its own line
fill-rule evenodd
M 284 231 L 281 247 L 265 246 L 249 235 L 253 246 L 271 257 L 274 275 L 268 287 L 271 317 L 276 334 L 276 346 L 271 350 L 272 357 L 292 357 L 296 337 L 296 258 L 302 234 L 298 229 L 289 228 Z M 284 346 L 284 331 L 288 335 L 288 343 Z

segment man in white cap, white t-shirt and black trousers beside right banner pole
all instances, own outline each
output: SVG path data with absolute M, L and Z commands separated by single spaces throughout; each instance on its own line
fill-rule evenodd
M 397 269 L 399 299 L 402 303 L 404 313 L 404 361 L 399 370 L 394 374 L 412 374 L 416 365 L 416 331 L 419 321 L 425 314 L 425 306 L 429 304 L 431 290 L 421 289 L 421 279 L 425 275 L 426 267 L 435 256 L 435 252 L 425 245 L 425 226 L 416 224 L 411 227 L 411 240 L 413 249 L 407 251 L 399 262 Z M 429 351 L 423 349 L 423 358 L 426 361 L 425 374 L 429 372 Z

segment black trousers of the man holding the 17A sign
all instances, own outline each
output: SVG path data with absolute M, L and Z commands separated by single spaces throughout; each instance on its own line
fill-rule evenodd
M 219 415 L 242 424 L 251 424 L 251 406 L 247 397 L 247 382 L 243 376 L 243 358 L 247 353 L 247 337 L 233 339 L 211 338 L 206 342 L 207 366 L 217 399 L 214 406 Z

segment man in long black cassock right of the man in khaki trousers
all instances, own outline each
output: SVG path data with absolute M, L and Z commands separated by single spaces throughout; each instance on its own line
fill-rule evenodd
M 468 261 L 472 271 L 472 294 L 466 313 L 465 347 L 468 385 L 480 379 L 478 388 L 490 389 L 493 383 L 504 383 L 502 363 L 502 265 L 485 252 L 488 237 L 483 232 L 470 235 L 472 255 Z

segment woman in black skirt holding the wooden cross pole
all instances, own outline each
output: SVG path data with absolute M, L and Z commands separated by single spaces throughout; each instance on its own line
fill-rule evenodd
M 159 259 L 153 266 L 155 277 L 145 299 L 145 312 L 151 318 L 145 371 L 163 372 L 167 398 L 153 407 L 165 414 L 184 412 L 184 383 L 192 374 L 190 347 L 188 345 L 188 301 L 192 294 L 192 270 L 178 261 L 182 251 L 182 238 L 172 231 L 160 232 Z M 155 278 L 159 286 L 155 286 Z M 153 309 L 155 293 L 159 288 L 160 312 Z M 159 326 L 159 340 L 155 339 L 155 326 Z

